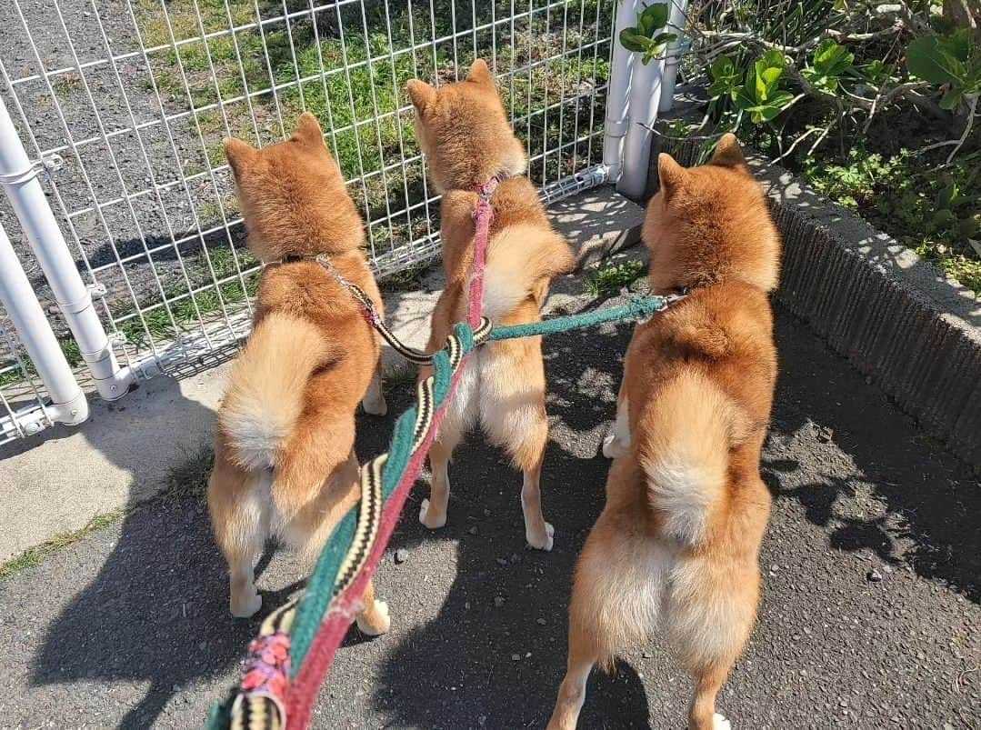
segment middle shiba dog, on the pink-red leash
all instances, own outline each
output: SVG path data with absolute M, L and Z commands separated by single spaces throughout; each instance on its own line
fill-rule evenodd
M 430 351 L 443 346 L 454 323 L 465 319 L 478 203 L 474 188 L 494 175 L 520 175 L 524 148 L 507 124 L 484 61 L 466 80 L 435 89 L 410 81 L 416 129 L 433 182 L 443 190 L 440 207 L 446 288 L 433 312 Z M 550 281 L 572 270 L 568 243 L 551 228 L 538 191 L 527 178 L 507 177 L 491 198 L 484 310 L 495 323 L 541 319 Z M 423 369 L 425 378 L 431 370 Z M 551 549 L 552 527 L 542 516 L 539 481 L 548 439 L 545 376 L 540 338 L 491 342 L 472 357 L 430 452 L 433 487 L 420 519 L 429 528 L 446 520 L 447 463 L 453 448 L 476 422 L 491 443 L 504 446 L 524 472 L 525 535 L 534 548 Z

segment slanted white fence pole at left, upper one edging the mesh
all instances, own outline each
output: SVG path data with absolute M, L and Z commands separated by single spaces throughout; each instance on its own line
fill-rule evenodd
M 3 99 L 0 99 L 0 185 L 10 198 L 55 301 L 78 342 L 96 389 L 107 400 L 122 397 L 129 390 L 132 373 L 116 361 L 92 304 L 91 292 L 81 281 L 65 237 L 37 180 L 37 169 L 27 157 Z

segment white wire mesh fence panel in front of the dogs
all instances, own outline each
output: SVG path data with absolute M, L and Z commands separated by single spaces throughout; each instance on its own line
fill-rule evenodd
M 28 154 L 64 159 L 47 183 L 52 207 L 121 359 L 148 374 L 147 363 L 168 368 L 248 331 L 259 263 L 244 246 L 224 137 L 269 144 L 312 111 L 368 223 L 377 272 L 412 268 L 436 253 L 439 220 L 406 81 L 453 80 L 487 59 L 532 179 L 567 189 L 600 161 L 615 6 L 8 0 L 0 94 Z M 11 382 L 16 365 L 0 355 Z

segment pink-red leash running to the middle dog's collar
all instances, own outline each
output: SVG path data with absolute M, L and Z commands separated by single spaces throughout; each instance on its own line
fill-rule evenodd
M 470 292 L 467 301 L 467 323 L 471 328 L 477 328 L 480 325 L 484 309 L 484 268 L 487 264 L 490 218 L 493 215 L 490 196 L 497 189 L 497 183 L 497 178 L 491 178 L 477 190 L 480 194 L 480 200 L 473 213 L 475 223 L 474 260 L 470 267 Z M 368 581 L 371 580 L 375 569 L 382 561 L 391 533 L 394 531 L 395 525 L 398 524 L 402 507 L 405 506 L 405 500 L 422 470 L 430 446 L 436 439 L 439 424 L 449 406 L 453 391 L 456 390 L 457 381 L 466 365 L 465 361 L 469 357 L 470 355 L 467 355 L 464 362 L 457 368 L 453 380 L 450 381 L 446 399 L 439 410 L 433 414 L 433 424 L 426 439 L 409 459 L 405 474 L 388 498 L 386 507 L 382 511 L 382 521 L 379 525 L 375 545 L 372 546 L 371 554 L 365 562 L 361 574 L 358 575 L 347 591 L 336 599 L 333 607 L 328 611 L 317 636 L 314 637 L 313 643 L 310 645 L 303 665 L 290 684 L 286 704 L 286 723 L 289 730 L 305 730 L 310 724 L 313 704 L 317 699 L 320 686 L 331 668 L 337 648 L 344 640 L 347 628 L 354 621 L 357 609 L 361 607 L 361 597 L 364 596 L 365 589 L 368 587 Z

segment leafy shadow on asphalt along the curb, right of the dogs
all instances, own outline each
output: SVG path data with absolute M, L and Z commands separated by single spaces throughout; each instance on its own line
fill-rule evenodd
M 777 318 L 780 383 L 763 462 L 774 495 L 799 500 L 832 548 L 870 549 L 981 601 L 978 480 L 805 328 Z M 808 445 L 805 471 L 819 481 L 801 482 L 801 464 L 780 458 L 793 440 Z M 856 504 L 859 494 L 871 503 Z

